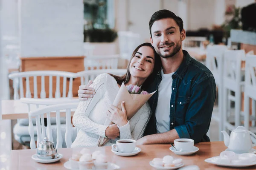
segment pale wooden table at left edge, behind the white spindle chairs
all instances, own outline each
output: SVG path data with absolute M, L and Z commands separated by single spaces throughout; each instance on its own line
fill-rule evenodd
M 56 99 L 57 100 L 57 99 Z M 74 100 L 77 100 L 77 97 L 74 97 Z M 28 119 L 28 105 L 25 103 L 21 103 L 20 100 L 2 100 L 2 119 Z M 43 108 L 45 106 L 39 106 L 39 108 Z M 36 109 L 36 105 L 31 105 L 31 111 Z M 74 115 L 76 109 L 71 109 L 71 116 Z M 50 114 L 51 117 L 55 117 L 56 115 Z M 65 117 L 65 112 L 60 112 L 61 117 Z M 47 116 L 46 114 L 44 115 Z

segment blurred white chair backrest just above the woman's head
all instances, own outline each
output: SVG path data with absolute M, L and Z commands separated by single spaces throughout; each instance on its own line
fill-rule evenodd
M 117 34 L 121 57 L 124 59 L 130 59 L 134 49 L 141 44 L 140 34 L 136 34 L 131 31 L 119 31 Z

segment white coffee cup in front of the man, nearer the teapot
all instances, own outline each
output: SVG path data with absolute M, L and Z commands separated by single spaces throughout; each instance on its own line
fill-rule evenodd
M 192 151 L 194 147 L 194 140 L 193 139 L 175 139 L 174 146 L 180 152 L 188 152 Z

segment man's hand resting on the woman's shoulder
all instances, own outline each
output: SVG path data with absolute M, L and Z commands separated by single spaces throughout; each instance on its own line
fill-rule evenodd
M 88 98 L 92 98 L 95 94 L 95 90 L 90 87 L 90 85 L 93 83 L 92 80 L 88 82 L 87 85 L 80 85 L 78 96 L 80 101 L 86 101 Z

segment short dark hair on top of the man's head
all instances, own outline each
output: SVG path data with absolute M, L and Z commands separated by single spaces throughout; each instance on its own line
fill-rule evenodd
M 164 18 L 172 18 L 175 20 L 177 25 L 180 28 L 180 32 L 183 30 L 183 20 L 180 17 L 177 17 L 172 11 L 169 11 L 167 9 L 159 10 L 156 11 L 150 18 L 149 20 L 149 31 L 150 31 L 150 36 L 152 37 L 151 34 L 151 27 L 153 26 L 154 22 L 157 20 L 161 20 Z

